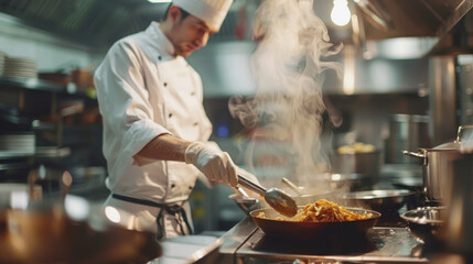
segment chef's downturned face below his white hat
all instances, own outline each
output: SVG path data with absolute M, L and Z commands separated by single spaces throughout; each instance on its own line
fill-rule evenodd
M 192 14 L 182 19 L 182 13 L 178 14 L 171 32 L 175 55 L 183 57 L 205 46 L 208 37 L 216 33 L 204 21 Z

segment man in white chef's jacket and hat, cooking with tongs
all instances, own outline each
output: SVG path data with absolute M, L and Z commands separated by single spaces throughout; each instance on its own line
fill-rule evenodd
M 95 73 L 110 196 L 127 228 L 158 239 L 193 232 L 197 177 L 235 187 L 237 167 L 208 142 L 198 74 L 184 59 L 217 33 L 232 0 L 174 0 L 161 23 L 115 43 Z

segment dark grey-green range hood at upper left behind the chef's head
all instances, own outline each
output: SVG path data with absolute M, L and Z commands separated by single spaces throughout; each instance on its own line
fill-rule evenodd
M 148 0 L 0 0 L 0 13 L 61 38 L 106 51 L 117 40 L 160 21 L 168 6 Z M 234 35 L 236 16 L 236 11 L 230 12 L 213 38 Z

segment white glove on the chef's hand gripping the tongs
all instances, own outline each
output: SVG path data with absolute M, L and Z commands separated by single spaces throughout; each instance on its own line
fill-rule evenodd
M 228 153 L 211 144 L 194 142 L 185 150 L 185 163 L 194 165 L 209 180 L 235 187 L 237 166 Z

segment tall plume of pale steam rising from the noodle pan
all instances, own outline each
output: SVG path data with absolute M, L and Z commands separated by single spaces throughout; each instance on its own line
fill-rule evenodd
M 247 163 L 254 165 L 256 148 L 266 147 L 280 162 L 292 166 L 292 174 L 316 175 L 326 161 L 321 153 L 322 114 L 327 110 L 322 85 L 324 73 L 342 67 L 321 58 L 337 54 L 342 45 L 330 43 L 326 26 L 313 11 L 312 0 L 266 0 L 256 12 L 254 37 L 258 47 L 252 54 L 257 94 L 252 98 L 235 97 L 229 101 L 234 118 L 266 146 L 247 148 Z M 340 125 L 338 117 L 331 117 Z M 322 166 L 321 166 L 322 165 Z M 261 166 L 261 164 L 258 164 Z M 299 178 L 309 184 L 311 178 Z

